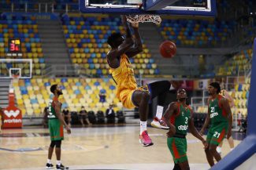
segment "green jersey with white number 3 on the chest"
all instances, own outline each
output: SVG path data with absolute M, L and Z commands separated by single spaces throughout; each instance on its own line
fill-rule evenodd
M 170 118 L 171 124 L 176 127 L 176 134 L 187 135 L 188 121 L 191 119 L 191 107 L 176 102 L 178 107 L 177 114 L 173 114 Z

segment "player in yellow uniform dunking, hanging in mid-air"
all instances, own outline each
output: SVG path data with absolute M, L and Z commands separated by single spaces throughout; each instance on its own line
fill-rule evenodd
M 159 93 L 168 91 L 171 84 L 169 81 L 158 81 L 140 88 L 137 86 L 129 58 L 143 51 L 139 24 L 132 24 L 135 34 L 134 42 L 125 16 L 122 16 L 122 22 L 126 30 L 125 38 L 120 33 L 113 33 L 108 38 L 108 44 L 111 46 L 106 56 L 109 71 L 117 83 L 117 98 L 121 100 L 123 106 L 128 109 L 139 107 L 139 142 L 143 146 L 151 146 L 153 143 L 147 133 L 148 103 L 150 98 L 153 99 Z

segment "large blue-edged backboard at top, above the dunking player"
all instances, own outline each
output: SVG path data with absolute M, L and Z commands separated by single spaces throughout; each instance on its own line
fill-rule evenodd
M 80 12 L 216 16 L 216 0 L 80 0 Z

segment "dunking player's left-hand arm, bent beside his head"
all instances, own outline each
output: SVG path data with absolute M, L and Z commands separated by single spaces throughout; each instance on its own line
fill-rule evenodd
M 119 67 L 118 57 L 128 52 L 128 50 L 132 48 L 132 45 L 134 45 L 134 42 L 132 40 L 132 34 L 127 24 L 126 16 L 122 16 L 122 20 L 126 30 L 126 38 L 124 42 L 121 43 L 121 45 L 119 45 L 117 48 L 111 49 L 106 55 L 109 66 L 112 68 Z

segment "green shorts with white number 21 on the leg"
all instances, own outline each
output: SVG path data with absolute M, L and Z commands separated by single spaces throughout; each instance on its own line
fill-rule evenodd
M 228 123 L 223 122 L 217 125 L 211 125 L 209 132 L 207 134 L 206 141 L 207 143 L 213 145 L 219 145 L 228 132 Z

